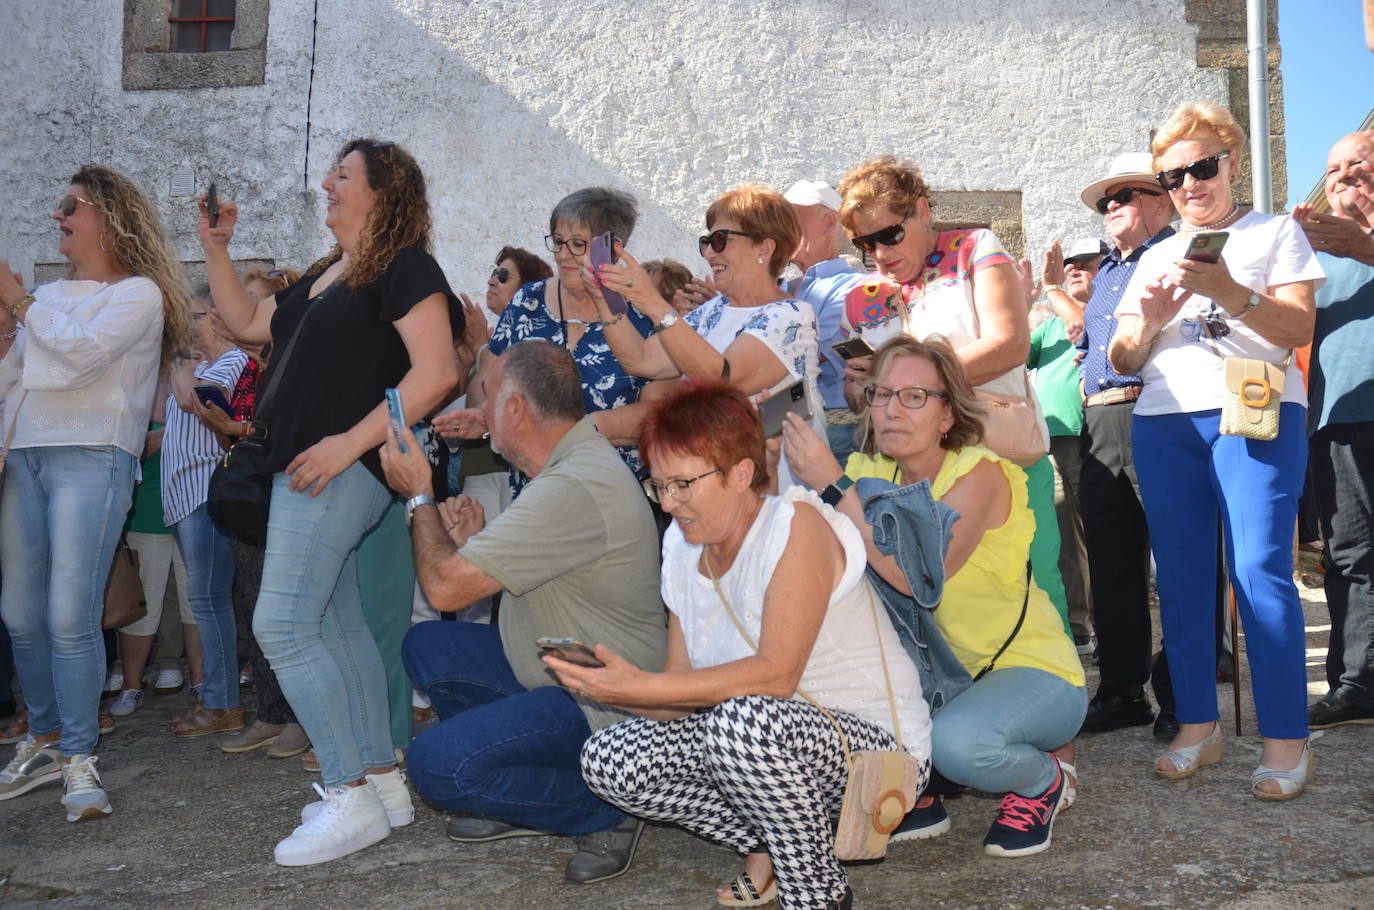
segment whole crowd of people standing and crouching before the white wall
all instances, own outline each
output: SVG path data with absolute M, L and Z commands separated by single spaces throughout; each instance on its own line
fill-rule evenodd
M 1300 796 L 1309 729 L 1374 723 L 1374 135 L 1331 150 L 1330 214 L 1239 205 L 1243 148 L 1180 106 L 1081 190 L 1107 242 L 1054 243 L 1039 276 L 941 230 L 892 155 L 723 192 L 703 276 L 640 261 L 635 198 L 583 188 L 552 268 L 503 247 L 485 305 L 394 143 L 339 151 L 335 242 L 301 272 L 240 275 L 247 213 L 202 198 L 196 291 L 147 195 L 82 168 L 54 213 L 71 278 L 0 263 L 0 800 L 51 784 L 69 821 L 109 815 L 98 738 L 184 685 L 184 647 L 170 735 L 320 774 L 280 865 L 387 837 L 418 795 L 458 843 L 576 837 L 573 883 L 624 873 L 654 821 L 741 855 L 723 906 L 849 907 L 857 753 L 910 762 L 892 841 L 1003 795 L 995 856 L 1050 847 L 1081 734 L 1153 723 L 1167 779 L 1217 763 L 1227 583 L 1249 789 Z M 121 540 L 148 609 L 107 654 Z

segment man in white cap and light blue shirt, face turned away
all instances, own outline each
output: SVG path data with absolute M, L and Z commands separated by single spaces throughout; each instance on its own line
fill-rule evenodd
M 863 280 L 863 268 L 840 254 L 840 194 L 834 187 L 824 180 L 798 180 L 783 198 L 801 220 L 801 245 L 791 257 L 801 278 L 787 282 L 787 293 L 816 311 L 820 397 L 830 425 L 830 451 L 844 465 L 855 448 L 855 418 L 845 401 L 845 362 L 830 345 L 844 340 L 840 323 L 845 315 L 845 294 Z

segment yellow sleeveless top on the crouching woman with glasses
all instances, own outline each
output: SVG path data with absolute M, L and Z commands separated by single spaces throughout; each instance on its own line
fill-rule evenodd
M 995 462 L 1011 485 L 1011 510 L 1006 522 L 985 532 L 969 559 L 945 579 L 944 598 L 934 612 L 940 632 L 973 675 L 988 665 L 1021 616 L 1021 602 L 1026 597 L 1026 559 L 1035 535 L 1035 515 L 1026 504 L 1025 471 L 981 445 L 945 452 L 944 463 L 930 484 L 932 495 L 943 499 L 955 481 L 984 459 Z M 845 473 L 855 480 L 881 477 L 900 482 L 897 463 L 885 455 L 855 452 Z M 1025 623 L 998 658 L 998 669 L 1009 667 L 1043 669 L 1073 686 L 1085 683 L 1083 664 L 1073 642 L 1063 634 L 1058 610 L 1035 583 L 1030 584 Z

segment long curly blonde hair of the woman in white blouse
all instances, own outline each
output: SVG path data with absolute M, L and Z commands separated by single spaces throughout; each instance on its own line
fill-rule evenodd
M 82 165 L 69 183 L 85 188 L 100 216 L 102 247 L 124 272 L 162 291 L 162 359 L 166 367 L 191 341 L 191 289 L 158 210 L 136 183 L 104 165 Z

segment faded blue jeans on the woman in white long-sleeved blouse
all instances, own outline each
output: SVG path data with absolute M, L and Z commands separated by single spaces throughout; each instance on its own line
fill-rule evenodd
M 62 755 L 99 738 L 100 612 L 114 544 L 133 499 L 135 459 L 113 445 L 10 452 L 0 498 L 0 616 L 29 708 L 29 730 L 62 730 Z

